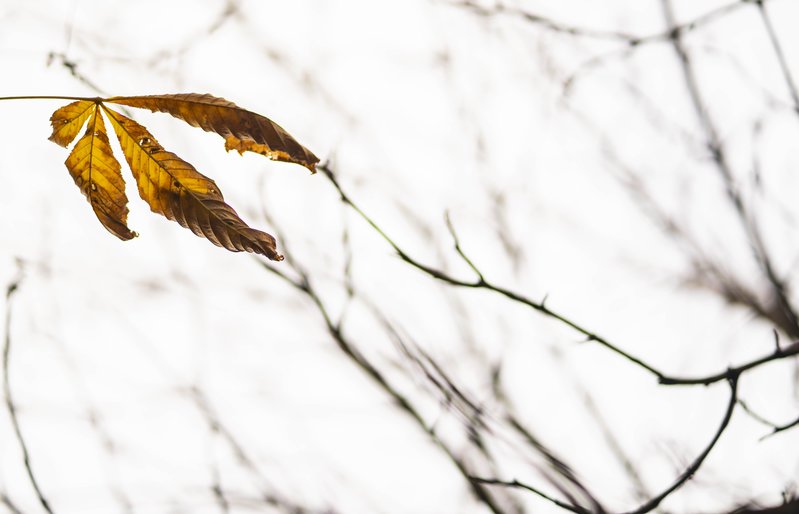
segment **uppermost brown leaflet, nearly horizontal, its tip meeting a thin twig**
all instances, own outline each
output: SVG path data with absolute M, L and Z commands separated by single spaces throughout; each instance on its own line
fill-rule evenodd
M 165 112 L 225 138 L 225 149 L 255 152 L 275 161 L 305 166 L 316 173 L 319 158 L 274 121 L 208 94 L 116 96 L 106 102 Z

